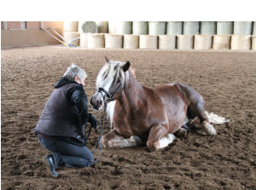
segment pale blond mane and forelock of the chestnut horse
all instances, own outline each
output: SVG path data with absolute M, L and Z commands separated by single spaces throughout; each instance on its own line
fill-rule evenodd
M 127 72 L 124 72 L 122 69 L 122 66 L 125 65 L 125 62 L 121 61 L 113 61 L 113 60 L 108 60 L 105 65 L 102 67 L 101 71 L 99 72 L 97 78 L 96 78 L 96 89 L 99 87 L 102 87 L 104 85 L 104 80 L 111 80 L 113 82 L 113 78 L 123 78 L 122 80 L 122 89 L 127 89 L 128 84 L 129 84 L 129 73 L 133 78 L 136 78 L 135 76 L 135 71 L 133 68 L 129 68 Z M 116 83 L 116 81 L 115 81 Z M 113 112 L 114 112 L 114 107 L 115 107 L 116 101 L 111 101 L 108 103 L 107 107 L 107 113 L 108 113 L 108 118 L 110 119 L 110 125 L 112 129 L 112 124 L 113 124 Z

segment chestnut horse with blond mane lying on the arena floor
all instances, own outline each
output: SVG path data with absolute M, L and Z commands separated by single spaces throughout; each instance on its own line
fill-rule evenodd
M 202 96 L 189 85 L 168 83 L 150 89 L 137 83 L 129 61 L 105 59 L 96 78 L 96 93 L 90 99 L 94 110 L 108 104 L 108 117 L 114 125 L 103 135 L 102 147 L 146 144 L 154 152 L 172 143 L 175 135 L 186 135 L 190 119 L 199 119 L 207 135 L 217 135 L 210 123 L 229 121 L 208 114 Z

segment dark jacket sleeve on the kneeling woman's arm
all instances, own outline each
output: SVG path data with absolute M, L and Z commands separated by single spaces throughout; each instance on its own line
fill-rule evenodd
M 79 135 L 84 137 L 85 124 L 88 122 L 88 100 L 84 89 L 76 89 L 71 95 L 71 103 L 76 104 L 79 109 L 79 121 L 77 124 Z

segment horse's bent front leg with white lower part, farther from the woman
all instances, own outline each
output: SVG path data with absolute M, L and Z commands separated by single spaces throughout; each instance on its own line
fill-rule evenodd
M 166 128 L 161 125 L 154 125 L 148 135 L 147 146 L 150 152 L 167 147 L 175 138 L 172 134 L 167 134 Z

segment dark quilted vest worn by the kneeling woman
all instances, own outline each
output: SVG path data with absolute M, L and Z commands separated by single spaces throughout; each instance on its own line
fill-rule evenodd
M 79 109 L 66 98 L 68 90 L 77 85 L 79 84 L 68 83 L 53 91 L 34 129 L 35 134 L 73 137 L 84 142 L 79 138 L 77 130 Z M 85 128 L 85 124 L 83 127 Z

